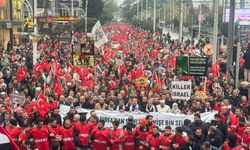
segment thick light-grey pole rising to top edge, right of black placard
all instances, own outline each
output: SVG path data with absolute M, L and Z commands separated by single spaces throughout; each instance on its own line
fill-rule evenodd
M 214 0 L 214 31 L 213 31 L 213 64 L 217 60 L 217 47 L 218 47 L 218 19 L 219 19 L 219 3 Z

